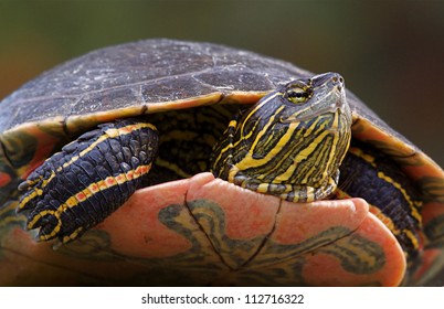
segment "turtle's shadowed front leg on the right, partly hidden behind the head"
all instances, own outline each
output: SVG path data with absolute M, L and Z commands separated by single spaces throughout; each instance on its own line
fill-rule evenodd
M 393 161 L 380 153 L 353 141 L 340 168 L 339 191 L 364 199 L 414 264 L 421 248 L 419 190 Z

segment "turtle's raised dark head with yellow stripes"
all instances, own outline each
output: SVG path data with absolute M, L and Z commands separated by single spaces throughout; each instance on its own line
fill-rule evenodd
M 215 175 L 294 202 L 327 198 L 351 136 L 343 78 L 325 73 L 284 85 L 230 122 Z

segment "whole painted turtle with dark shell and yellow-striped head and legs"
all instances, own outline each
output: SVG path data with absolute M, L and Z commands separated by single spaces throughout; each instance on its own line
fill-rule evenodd
M 399 286 L 444 172 L 334 72 L 151 39 L 0 103 L 0 285 Z

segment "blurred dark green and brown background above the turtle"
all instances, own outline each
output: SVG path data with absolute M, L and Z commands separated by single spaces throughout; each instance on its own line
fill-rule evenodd
M 0 0 L 0 98 L 52 66 L 146 38 L 211 41 L 337 71 L 444 166 L 444 1 Z

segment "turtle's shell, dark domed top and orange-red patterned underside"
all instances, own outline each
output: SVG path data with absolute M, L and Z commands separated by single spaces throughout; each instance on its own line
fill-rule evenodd
M 53 251 L 15 214 L 17 185 L 98 124 L 247 105 L 313 74 L 209 43 L 147 40 L 88 53 L 7 97 L 0 115 L 1 285 L 426 284 L 443 264 L 444 172 L 350 92 L 352 136 L 421 188 L 422 265 L 409 278 L 390 230 L 360 199 L 289 203 L 198 173 L 137 191 L 81 239 Z

